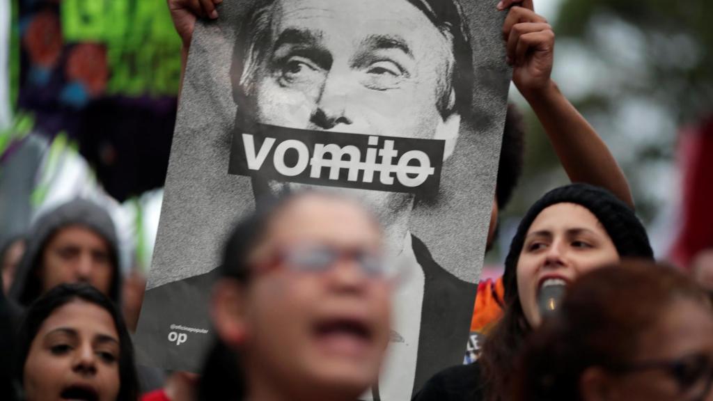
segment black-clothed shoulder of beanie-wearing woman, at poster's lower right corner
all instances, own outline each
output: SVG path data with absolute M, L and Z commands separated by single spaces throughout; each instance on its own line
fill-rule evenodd
M 483 400 L 482 388 L 478 362 L 457 365 L 436 373 L 412 401 L 478 401 Z

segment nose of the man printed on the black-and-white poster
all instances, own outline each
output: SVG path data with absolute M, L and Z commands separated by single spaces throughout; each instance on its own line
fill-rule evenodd
M 309 116 L 309 122 L 325 130 L 339 125 L 352 125 L 354 121 L 349 116 L 348 106 L 353 86 L 348 71 L 330 71 L 319 93 L 312 116 Z

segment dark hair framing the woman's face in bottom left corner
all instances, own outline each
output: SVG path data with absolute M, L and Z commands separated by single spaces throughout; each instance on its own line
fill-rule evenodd
M 138 381 L 134 362 L 131 337 L 114 303 L 99 290 L 86 283 L 61 284 L 49 290 L 37 299 L 27 309 L 20 325 L 17 337 L 17 353 L 15 358 L 16 385 L 24 383 L 24 365 L 30 352 L 30 347 L 42 323 L 52 313 L 73 300 L 83 300 L 97 305 L 111 315 L 116 332 L 119 335 L 119 380 L 120 387 L 117 401 L 135 401 L 138 397 Z

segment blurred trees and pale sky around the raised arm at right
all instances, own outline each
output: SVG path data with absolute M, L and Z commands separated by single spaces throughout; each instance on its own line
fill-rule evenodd
M 680 201 L 679 132 L 713 114 L 713 1 L 535 0 L 535 11 L 555 29 L 553 78 L 612 149 L 665 252 Z M 568 182 L 514 88 L 511 101 L 525 113 L 525 169 L 501 218 L 501 244 L 536 199 Z

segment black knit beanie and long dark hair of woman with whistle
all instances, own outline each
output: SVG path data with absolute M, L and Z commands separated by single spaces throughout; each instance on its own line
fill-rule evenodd
M 525 235 L 540 212 L 557 203 L 575 203 L 590 210 L 605 228 L 620 258 L 653 260 L 644 226 L 634 211 L 609 191 L 574 183 L 545 193 L 520 221 L 505 261 L 503 285 L 506 308 L 501 320 L 486 337 L 480 359 L 490 400 L 503 400 L 511 391 L 515 360 L 523 347 L 525 337 L 532 331 L 520 303 L 516 279 Z

